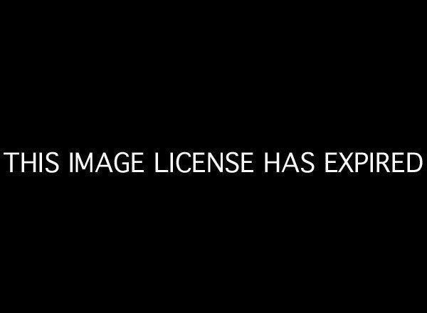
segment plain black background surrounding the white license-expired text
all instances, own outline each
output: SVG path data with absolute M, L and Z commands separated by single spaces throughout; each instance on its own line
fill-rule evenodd
M 9 295 L 263 308 L 417 297 L 425 169 L 327 175 L 322 160 L 425 157 L 413 12 L 104 9 L 21 8 L 5 22 L 1 152 L 253 151 L 257 173 L 3 171 Z M 305 151 L 314 174 L 262 174 L 263 152 Z

